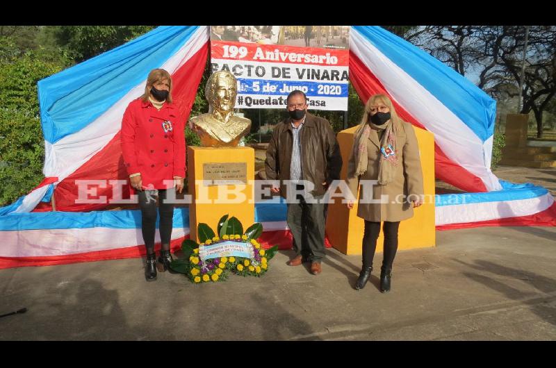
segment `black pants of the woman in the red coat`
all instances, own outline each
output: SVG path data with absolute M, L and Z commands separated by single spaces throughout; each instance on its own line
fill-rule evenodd
M 173 189 L 170 189 L 173 190 Z M 174 203 L 166 203 L 166 191 L 158 190 L 158 213 L 161 221 L 158 229 L 161 233 L 162 249 L 170 250 L 170 238 L 172 237 L 172 218 L 174 217 Z M 156 233 L 156 195 L 152 191 L 141 190 L 139 194 L 139 206 L 141 207 L 141 232 L 143 241 L 147 247 L 147 254 L 154 253 L 154 235 Z

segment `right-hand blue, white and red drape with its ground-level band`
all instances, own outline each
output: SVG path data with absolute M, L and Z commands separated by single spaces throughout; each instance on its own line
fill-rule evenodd
M 350 80 L 363 103 L 386 94 L 402 119 L 434 133 L 436 178 L 469 192 L 436 196 L 437 226 L 556 224 L 547 190 L 491 172 L 496 101 L 454 69 L 380 27 L 354 26 Z

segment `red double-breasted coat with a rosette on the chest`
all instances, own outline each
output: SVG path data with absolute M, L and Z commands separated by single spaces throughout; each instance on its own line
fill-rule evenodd
M 128 175 L 141 173 L 143 189 L 167 189 L 163 181 L 185 178 L 184 128 L 172 103 L 164 103 L 160 111 L 150 101 L 129 103 L 122 119 L 122 155 Z

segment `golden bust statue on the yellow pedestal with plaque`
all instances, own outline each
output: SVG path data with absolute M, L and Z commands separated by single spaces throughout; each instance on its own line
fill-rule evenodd
M 234 115 L 237 80 L 222 70 L 208 78 L 204 95 L 208 100 L 207 114 L 190 119 L 203 147 L 237 147 L 241 137 L 249 133 L 251 120 Z

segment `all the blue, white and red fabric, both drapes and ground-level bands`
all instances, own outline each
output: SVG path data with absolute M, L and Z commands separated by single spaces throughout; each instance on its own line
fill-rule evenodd
M 149 71 L 162 67 L 172 74 L 174 101 L 188 117 L 207 55 L 208 27 L 163 26 L 38 83 L 45 178 L 0 208 L 0 268 L 145 252 L 140 211 L 76 203 L 76 181 L 126 181 L 120 150 L 126 106 L 142 94 Z M 556 204 L 546 189 L 499 181 L 490 171 L 496 104 L 473 83 L 379 27 L 352 27 L 349 67 L 362 101 L 388 94 L 402 119 L 434 133 L 436 176 L 470 192 L 436 196 L 439 228 L 556 226 Z M 111 199 L 113 185 L 97 194 Z M 44 212 L 51 210 L 51 195 L 58 211 Z M 285 204 L 257 203 L 256 213 L 265 227 L 261 243 L 288 249 Z M 188 210 L 175 210 L 172 249 L 188 236 L 188 224 Z

